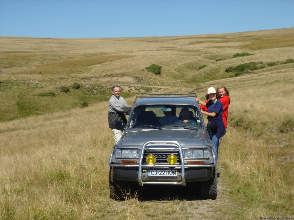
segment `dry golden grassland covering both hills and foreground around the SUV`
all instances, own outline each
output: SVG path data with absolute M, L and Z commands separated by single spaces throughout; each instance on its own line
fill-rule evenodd
M 243 53 L 251 55 L 233 58 Z M 294 216 L 290 59 L 294 28 L 148 38 L 0 37 L 0 219 Z M 250 62 L 263 67 L 238 77 L 225 71 Z M 146 71 L 151 64 L 162 66 L 161 75 Z M 72 89 L 74 83 L 81 88 Z M 208 87 L 229 89 L 216 200 L 173 187 L 161 193 L 146 188 L 143 199 L 109 199 L 113 135 L 106 115 L 113 84 L 129 106 L 140 92 L 196 92 L 204 100 Z M 70 91 L 56 91 L 61 86 Z M 48 92 L 55 96 L 39 95 Z M 81 108 L 83 101 L 89 106 Z

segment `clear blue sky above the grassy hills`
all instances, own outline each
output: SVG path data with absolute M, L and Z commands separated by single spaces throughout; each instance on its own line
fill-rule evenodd
M 293 0 L 0 0 L 0 36 L 107 38 L 294 27 Z

